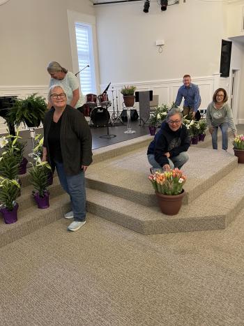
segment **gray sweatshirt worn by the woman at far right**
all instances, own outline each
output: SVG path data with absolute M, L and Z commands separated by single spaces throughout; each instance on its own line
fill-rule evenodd
M 214 103 L 211 102 L 207 108 L 206 122 L 208 128 L 211 128 L 211 126 L 218 127 L 220 124 L 227 122 L 232 133 L 237 133 L 233 114 L 229 104 L 227 103 L 225 103 L 222 108 L 216 109 Z

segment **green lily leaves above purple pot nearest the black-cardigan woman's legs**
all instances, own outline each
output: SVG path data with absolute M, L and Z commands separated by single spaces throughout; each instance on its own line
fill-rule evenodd
M 44 193 L 47 191 L 47 179 L 50 169 L 51 168 L 47 162 L 42 162 L 32 165 L 32 168 L 29 171 L 31 184 L 39 193 L 40 197 L 44 197 Z

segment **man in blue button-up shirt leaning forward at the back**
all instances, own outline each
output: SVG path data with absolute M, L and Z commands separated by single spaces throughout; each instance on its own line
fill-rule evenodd
M 183 85 L 178 89 L 176 97 L 176 105 L 181 105 L 182 98 L 183 103 L 183 117 L 188 115 L 190 118 L 195 119 L 195 114 L 201 104 L 201 96 L 199 94 L 199 87 L 192 84 L 190 75 L 184 75 Z

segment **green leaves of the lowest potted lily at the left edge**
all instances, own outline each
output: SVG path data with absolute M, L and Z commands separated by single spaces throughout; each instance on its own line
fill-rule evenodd
M 16 180 L 0 177 L 0 202 L 8 211 L 14 209 L 19 190 L 20 184 Z

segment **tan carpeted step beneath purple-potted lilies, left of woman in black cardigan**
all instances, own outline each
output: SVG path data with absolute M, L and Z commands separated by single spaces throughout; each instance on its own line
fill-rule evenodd
M 38 209 L 36 205 L 20 209 L 18 221 L 13 224 L 5 224 L 3 218 L 0 218 L 0 247 L 62 218 L 70 210 L 70 199 L 66 194 L 52 198 L 49 203 L 47 209 Z

